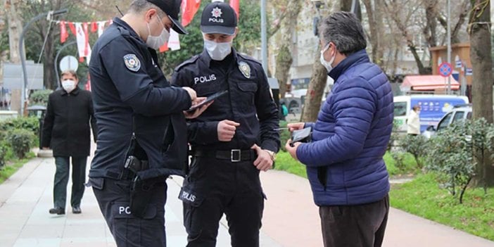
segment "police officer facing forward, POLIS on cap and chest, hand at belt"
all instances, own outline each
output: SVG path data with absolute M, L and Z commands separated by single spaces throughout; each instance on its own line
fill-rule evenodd
M 215 246 L 223 214 L 232 246 L 259 246 L 265 199 L 259 172 L 272 167 L 279 149 L 278 110 L 261 64 L 232 48 L 236 26 L 228 4 L 205 6 L 204 51 L 172 75 L 172 84 L 191 87 L 198 96 L 228 90 L 188 122 L 193 158 L 179 198 L 189 247 Z

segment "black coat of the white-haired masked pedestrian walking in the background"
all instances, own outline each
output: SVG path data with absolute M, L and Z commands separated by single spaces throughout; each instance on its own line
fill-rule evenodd
M 91 137 L 96 140 L 91 92 L 75 87 L 70 93 L 53 91 L 48 99 L 42 129 L 42 147 L 51 147 L 53 156 L 89 156 Z

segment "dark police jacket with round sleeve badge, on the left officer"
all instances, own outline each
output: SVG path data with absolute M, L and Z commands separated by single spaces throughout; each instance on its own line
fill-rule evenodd
M 191 98 L 184 89 L 170 87 L 156 51 L 115 18 L 94 44 L 89 72 L 99 127 L 89 177 L 119 177 L 133 131 L 150 166 L 141 178 L 183 175 L 187 144 L 182 110 L 191 106 Z

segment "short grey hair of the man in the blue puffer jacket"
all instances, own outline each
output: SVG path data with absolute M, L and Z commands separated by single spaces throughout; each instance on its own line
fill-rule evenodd
M 332 13 L 322 20 L 319 30 L 324 45 L 333 42 L 336 44 L 336 49 L 346 56 L 367 47 L 362 24 L 353 13 L 345 11 Z

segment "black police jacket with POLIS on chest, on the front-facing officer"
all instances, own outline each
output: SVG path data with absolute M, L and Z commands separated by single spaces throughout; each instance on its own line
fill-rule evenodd
M 188 122 L 189 143 L 200 149 L 243 149 L 258 144 L 277 152 L 279 148 L 278 109 L 274 103 L 262 65 L 255 59 L 232 53 L 223 61 L 211 60 L 207 51 L 179 65 L 172 84 L 191 87 L 197 96 L 208 96 L 225 89 L 229 93 L 215 99 L 198 118 Z M 219 141 L 217 124 L 222 120 L 239 122 L 232 141 Z

